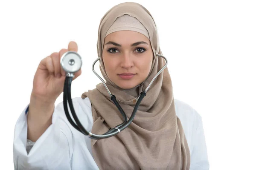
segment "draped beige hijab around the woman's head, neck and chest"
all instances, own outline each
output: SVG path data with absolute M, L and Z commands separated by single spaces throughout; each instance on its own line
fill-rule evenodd
M 124 90 L 115 85 L 105 72 L 102 50 L 105 35 L 118 17 L 128 14 L 137 18 L 147 29 L 154 59 L 145 81 L 132 89 Z M 128 118 L 134 109 L 134 98 L 147 88 L 165 61 L 162 54 L 157 26 L 149 11 L 138 3 L 121 3 L 111 8 L 102 18 L 98 32 L 98 57 L 100 70 L 108 88 L 118 99 Z M 102 83 L 84 92 L 92 103 L 92 133 L 103 134 L 123 122 L 122 116 L 110 99 Z M 190 153 L 180 120 L 175 113 L 172 80 L 166 68 L 149 88 L 137 114 L 125 130 L 107 139 L 91 141 L 93 158 L 101 170 L 189 170 Z

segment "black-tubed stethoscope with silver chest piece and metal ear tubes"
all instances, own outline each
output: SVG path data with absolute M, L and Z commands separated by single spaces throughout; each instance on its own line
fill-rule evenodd
M 81 56 L 76 53 L 75 51 L 67 51 L 65 54 L 62 55 L 61 57 L 61 67 L 64 69 L 64 71 L 66 71 L 66 79 L 65 79 L 65 83 L 64 83 L 64 90 L 63 90 L 63 105 L 64 105 L 64 111 L 65 114 L 67 116 L 68 121 L 70 122 L 70 124 L 79 132 L 83 133 L 84 135 L 88 136 L 91 139 L 104 139 L 104 138 L 109 138 L 111 136 L 116 135 L 117 133 L 120 133 L 122 130 L 124 130 L 126 127 L 128 127 L 131 122 L 133 121 L 137 110 L 140 106 L 140 102 L 142 101 L 142 99 L 146 96 L 146 93 L 149 89 L 149 87 L 151 86 L 151 84 L 154 82 L 154 80 L 157 78 L 157 76 L 166 68 L 167 66 L 167 59 L 160 54 L 157 54 L 157 57 L 162 57 L 163 59 L 165 59 L 166 64 L 163 66 L 163 68 L 158 71 L 158 73 L 154 76 L 154 78 L 151 80 L 151 82 L 149 83 L 148 87 L 142 91 L 140 93 L 139 96 L 137 96 L 137 98 L 135 99 L 136 105 L 134 106 L 134 110 L 131 114 L 130 119 L 127 121 L 127 116 L 125 114 L 125 112 L 122 110 L 121 106 L 119 105 L 119 103 L 117 102 L 116 96 L 114 96 L 111 91 L 108 89 L 108 86 L 106 85 L 106 83 L 104 82 L 104 80 L 99 76 L 99 74 L 96 73 L 96 71 L 94 70 L 94 65 L 95 63 L 100 60 L 100 57 L 97 58 L 94 62 L 93 62 L 93 66 L 92 66 L 92 70 L 93 73 L 96 74 L 97 77 L 99 77 L 99 79 L 102 81 L 103 85 L 105 86 L 105 88 L 108 91 L 109 96 L 111 97 L 111 100 L 113 101 L 113 103 L 116 105 L 116 108 L 119 110 L 119 112 L 122 114 L 122 117 L 124 119 L 124 122 L 122 122 L 121 124 L 117 125 L 116 127 L 108 130 L 106 133 L 102 134 L 102 135 L 97 135 L 97 134 L 93 134 L 91 132 L 88 132 L 84 126 L 81 124 L 81 122 L 79 121 L 78 117 L 76 116 L 76 112 L 74 110 L 73 107 L 73 102 L 72 102 L 72 98 L 71 98 L 71 82 L 72 79 L 74 78 L 74 74 L 79 71 L 79 69 L 82 66 L 82 59 Z M 117 99 L 117 100 L 116 100 Z M 131 101 L 133 101 L 134 99 L 132 99 Z M 67 102 L 65 102 L 67 101 Z M 121 101 L 121 100 L 119 100 Z M 130 101 L 121 101 L 121 102 L 130 102 Z M 76 122 L 76 124 L 73 122 L 73 120 L 70 117 L 70 113 L 68 111 L 67 108 L 67 103 L 69 104 L 70 107 L 70 111 L 72 113 L 72 116 Z

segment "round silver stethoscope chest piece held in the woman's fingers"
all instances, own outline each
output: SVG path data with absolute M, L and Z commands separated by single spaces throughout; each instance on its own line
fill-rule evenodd
M 61 57 L 61 67 L 67 73 L 75 73 L 82 66 L 81 56 L 75 51 L 67 51 Z

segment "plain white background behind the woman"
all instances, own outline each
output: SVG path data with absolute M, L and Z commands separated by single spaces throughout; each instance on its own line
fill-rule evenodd
M 33 77 L 41 59 L 67 48 L 71 40 L 76 41 L 84 63 L 81 76 L 72 82 L 72 97 L 95 88 L 100 80 L 91 71 L 91 65 L 97 57 L 99 22 L 106 11 L 121 2 L 125 1 L 0 2 L 0 164 L 6 166 L 4 169 L 13 168 L 15 123 L 29 104 Z M 202 116 L 210 169 L 253 169 L 255 1 L 135 2 L 145 6 L 157 23 L 160 47 L 169 59 L 175 98 Z M 55 104 L 62 97 L 61 94 Z

